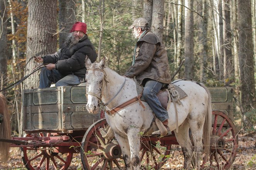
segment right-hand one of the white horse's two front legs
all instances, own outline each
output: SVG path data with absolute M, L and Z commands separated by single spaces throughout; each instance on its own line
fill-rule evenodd
M 139 151 L 140 151 L 140 135 L 139 130 L 136 128 L 131 128 L 127 132 L 127 137 L 129 140 L 130 150 L 131 150 L 131 163 L 134 170 L 140 169 L 140 158 L 139 158 Z

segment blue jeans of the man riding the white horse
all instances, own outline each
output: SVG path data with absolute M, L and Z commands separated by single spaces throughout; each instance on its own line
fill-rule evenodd
M 161 122 L 169 118 L 167 110 L 162 107 L 158 97 L 156 96 L 162 87 L 163 83 L 155 80 L 148 80 L 143 90 L 144 99 Z

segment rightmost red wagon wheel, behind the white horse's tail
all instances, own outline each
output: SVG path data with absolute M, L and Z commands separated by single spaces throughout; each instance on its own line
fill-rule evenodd
M 224 112 L 214 110 L 214 124 L 210 142 L 210 158 L 205 157 L 201 167 L 229 169 L 236 158 L 238 136 L 236 127 Z

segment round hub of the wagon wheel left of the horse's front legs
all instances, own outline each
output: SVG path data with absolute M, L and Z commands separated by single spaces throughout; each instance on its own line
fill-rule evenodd
M 121 157 L 122 151 L 119 145 L 108 143 L 104 147 L 103 154 L 108 160 L 114 160 Z

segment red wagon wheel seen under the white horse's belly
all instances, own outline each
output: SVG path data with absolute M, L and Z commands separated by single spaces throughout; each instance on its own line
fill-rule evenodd
M 160 169 L 170 157 L 171 145 L 160 141 L 143 140 L 141 142 L 141 166 L 145 169 Z

